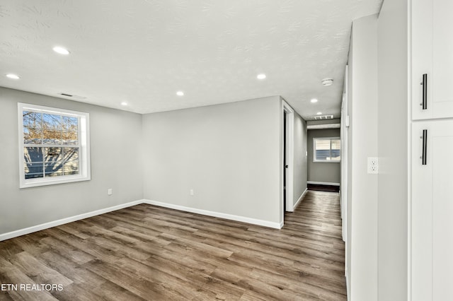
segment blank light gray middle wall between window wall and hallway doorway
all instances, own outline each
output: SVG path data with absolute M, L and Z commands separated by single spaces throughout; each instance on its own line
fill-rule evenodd
M 144 198 L 280 223 L 281 124 L 277 96 L 145 114 Z

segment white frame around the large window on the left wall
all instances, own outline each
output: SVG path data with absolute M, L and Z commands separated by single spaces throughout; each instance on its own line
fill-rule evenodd
M 79 174 L 78 175 L 62 175 L 58 177 L 42 177 L 25 179 L 24 169 L 24 148 L 25 143 L 23 137 L 23 111 L 33 111 L 57 114 L 62 116 L 77 117 L 79 121 L 78 137 L 79 137 Z M 19 138 L 19 187 L 38 187 L 52 184 L 62 184 L 70 182 L 88 181 L 91 179 L 90 167 L 90 115 L 85 112 L 76 112 L 71 110 L 63 110 L 55 107 L 44 107 L 41 105 L 30 105 L 27 103 L 18 102 L 18 138 Z M 41 144 L 40 146 L 45 146 Z M 52 145 L 58 147 L 58 145 Z

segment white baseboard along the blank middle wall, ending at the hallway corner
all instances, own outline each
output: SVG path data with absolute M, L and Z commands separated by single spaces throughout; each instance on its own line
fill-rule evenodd
M 236 220 L 238 222 L 249 223 L 249 224 L 253 224 L 253 225 L 262 225 L 265 227 L 275 228 L 275 229 L 282 228 L 282 225 L 280 225 L 280 223 L 273 223 L 268 220 L 258 220 L 256 218 L 247 218 L 245 216 L 234 216 L 232 214 L 185 207 L 185 206 L 175 205 L 173 203 L 163 203 L 160 201 L 144 200 L 143 202 L 148 203 L 150 205 L 156 205 L 156 206 L 161 206 L 161 207 L 165 207 L 165 208 L 176 209 L 179 211 L 186 211 L 186 212 L 190 212 L 190 213 L 202 214 L 203 216 L 214 216 L 216 218 L 225 218 L 227 220 Z

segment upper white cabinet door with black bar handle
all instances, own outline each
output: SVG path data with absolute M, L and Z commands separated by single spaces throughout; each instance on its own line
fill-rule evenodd
M 412 0 L 413 119 L 453 117 L 452 16 L 452 0 Z

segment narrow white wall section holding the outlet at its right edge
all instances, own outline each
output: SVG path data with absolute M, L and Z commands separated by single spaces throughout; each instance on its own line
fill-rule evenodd
M 377 300 L 377 15 L 354 20 L 348 61 L 348 288 L 352 301 Z

